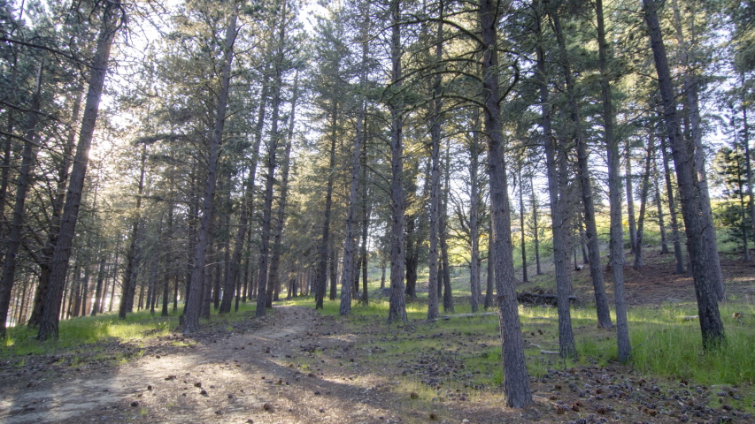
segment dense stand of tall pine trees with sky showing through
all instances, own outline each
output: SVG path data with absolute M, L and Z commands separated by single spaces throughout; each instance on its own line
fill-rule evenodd
M 552 258 L 574 358 L 584 264 L 626 361 L 625 260 L 641 269 L 660 246 L 693 277 L 705 349 L 726 340 L 717 241 L 749 261 L 755 226 L 751 0 L 0 13 L 3 336 L 141 309 L 180 310 L 191 334 L 212 309 L 255 302 L 259 317 L 300 295 L 342 315 L 386 296 L 398 323 L 427 296 L 432 320 L 465 269 L 471 311 L 498 311 L 506 401 L 523 407 L 516 284 Z

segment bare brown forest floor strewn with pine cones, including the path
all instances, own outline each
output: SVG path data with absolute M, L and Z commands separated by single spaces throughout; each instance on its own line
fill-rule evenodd
M 755 297 L 755 266 L 724 259 L 723 268 L 729 295 Z M 694 300 L 689 277 L 652 261 L 641 271 L 627 268 L 627 292 L 630 305 Z M 0 422 L 755 422 L 734 402 L 751 385 L 656 378 L 618 363 L 550 362 L 532 377 L 535 406 L 508 409 L 501 388 L 476 385 L 472 367 L 460 360 L 480 352 L 484 358 L 495 345 L 481 340 L 495 335 L 463 332 L 462 321 L 450 330 L 420 320 L 397 327 L 384 317 L 353 318 L 276 306 L 233 327 L 205 323 L 191 337 L 102 342 L 0 362 Z M 386 350 L 418 338 L 440 345 Z M 115 360 L 116 352 L 129 358 Z

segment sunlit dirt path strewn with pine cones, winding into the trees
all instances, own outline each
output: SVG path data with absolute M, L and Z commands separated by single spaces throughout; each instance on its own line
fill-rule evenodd
M 391 422 L 390 395 L 350 360 L 353 337 L 310 308 L 275 307 L 259 329 L 173 337 L 114 368 L 4 380 L 0 421 Z M 187 345 L 187 344 L 192 345 Z M 348 382 L 348 383 L 346 383 Z M 379 386 L 379 384 L 378 384 Z

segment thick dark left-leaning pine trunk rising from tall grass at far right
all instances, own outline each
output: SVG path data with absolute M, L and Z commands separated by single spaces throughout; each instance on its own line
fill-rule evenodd
M 683 139 L 679 127 L 674 86 L 668 67 L 666 47 L 663 44 L 663 37 L 660 32 L 657 5 L 653 0 L 643 0 L 643 5 L 645 20 L 651 37 L 651 49 L 659 77 L 666 132 L 671 141 L 676 180 L 682 198 L 682 217 L 687 233 L 687 250 L 692 264 L 692 277 L 695 280 L 695 295 L 697 297 L 697 311 L 703 346 L 705 349 L 713 349 L 720 346 L 725 338 L 723 322 L 721 322 L 718 302 L 716 301 L 716 290 L 720 288 L 720 282 L 713 281 L 711 273 L 706 269 L 713 267 L 713 262 L 718 261 L 718 257 L 711 257 L 711 251 L 705 246 L 708 243 L 715 243 L 715 240 L 708 239 L 708 235 L 705 233 L 705 225 L 711 223 L 706 219 L 705 208 L 702 204 L 705 200 L 700 196 L 700 182 L 696 175 L 696 158 L 694 155 L 690 155 L 688 143 Z

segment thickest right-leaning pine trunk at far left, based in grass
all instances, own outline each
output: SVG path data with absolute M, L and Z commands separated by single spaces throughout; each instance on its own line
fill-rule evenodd
M 68 259 L 71 256 L 71 246 L 76 230 L 76 222 L 81 205 L 81 193 L 84 187 L 84 178 L 89 163 L 89 147 L 95 131 L 97 110 L 100 97 L 102 96 L 105 74 L 108 68 L 108 58 L 112 41 L 115 37 L 119 14 L 122 13 L 120 1 L 112 0 L 104 4 L 102 27 L 97 39 L 97 47 L 94 60 L 92 61 L 91 75 L 89 76 L 89 92 L 84 107 L 84 116 L 81 121 L 81 132 L 76 147 L 76 155 L 73 160 L 71 180 L 68 184 L 68 193 L 65 196 L 63 217 L 58 233 L 58 244 L 52 258 L 50 270 L 50 285 L 44 298 L 42 307 L 42 320 L 40 321 L 37 339 L 47 340 L 58 338 L 58 322 L 60 315 L 60 302 L 63 297 L 65 274 L 68 269 Z

